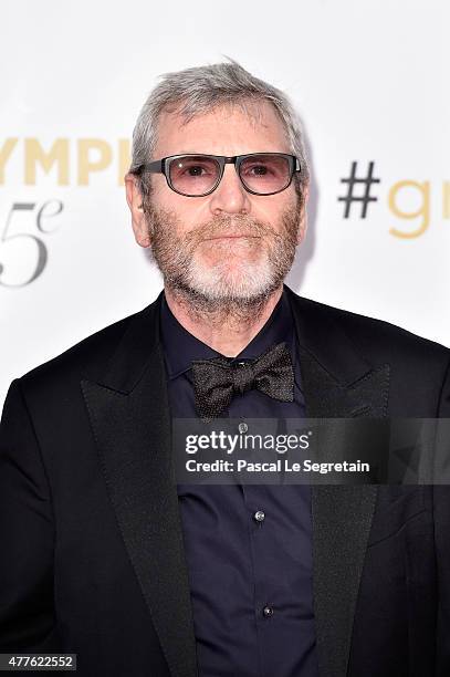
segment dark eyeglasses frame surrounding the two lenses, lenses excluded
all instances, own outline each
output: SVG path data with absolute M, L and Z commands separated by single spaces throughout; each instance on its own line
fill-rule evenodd
M 255 190 L 251 190 L 248 186 L 245 186 L 241 175 L 240 175 L 240 167 L 241 164 L 248 158 L 248 157 L 254 157 L 254 156 L 259 156 L 259 155 L 276 155 L 278 157 L 284 157 L 287 159 L 289 164 L 290 164 L 290 179 L 289 183 L 284 186 L 284 188 L 280 188 L 280 190 L 274 190 L 273 192 L 257 192 Z M 177 190 L 176 188 L 174 188 L 171 180 L 170 180 L 170 164 L 176 160 L 179 159 L 180 157 L 211 157 L 212 159 L 214 159 L 218 165 L 219 165 L 219 169 L 220 169 L 220 174 L 219 177 L 214 184 L 214 186 L 208 190 L 208 192 L 202 192 L 201 195 L 186 195 L 186 192 L 180 192 L 179 190 Z M 151 163 L 146 163 L 144 165 L 139 165 L 136 169 L 135 169 L 135 174 L 142 174 L 144 171 L 149 171 L 150 174 L 164 174 L 166 177 L 166 181 L 168 187 L 174 190 L 174 192 L 177 192 L 178 195 L 182 195 L 184 197 L 207 197 L 208 195 L 211 195 L 211 192 L 213 192 L 216 190 L 216 188 L 219 186 L 220 181 L 223 178 L 223 173 L 224 173 L 224 166 L 226 165 L 234 165 L 234 169 L 237 175 L 239 176 L 239 179 L 242 184 L 242 186 L 244 187 L 244 189 L 247 190 L 247 192 L 250 192 L 251 195 L 259 195 L 261 197 L 265 197 L 269 195 L 278 195 L 279 192 L 282 192 L 283 190 L 286 190 L 286 188 L 290 187 L 290 185 L 292 184 L 292 179 L 293 176 L 296 171 L 301 171 L 301 165 L 299 162 L 299 158 L 295 155 L 289 155 L 287 153 L 247 153 L 245 155 L 231 155 L 231 156 L 227 156 L 227 155 L 208 155 L 207 153 L 182 153 L 179 155 L 168 155 L 167 157 L 163 157 L 159 160 L 154 160 Z

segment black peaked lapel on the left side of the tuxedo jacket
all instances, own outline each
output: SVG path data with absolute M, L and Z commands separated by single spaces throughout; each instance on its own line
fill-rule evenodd
M 170 673 L 195 677 L 166 375 L 155 337 L 158 301 L 132 321 L 103 383 L 85 379 L 82 389 L 118 527 Z

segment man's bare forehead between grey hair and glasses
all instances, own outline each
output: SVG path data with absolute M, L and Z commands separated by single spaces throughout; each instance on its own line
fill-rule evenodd
M 189 122 L 177 110 L 164 112 L 157 136 L 154 155 L 158 158 L 178 153 L 290 153 L 283 123 L 269 102 L 222 105 Z

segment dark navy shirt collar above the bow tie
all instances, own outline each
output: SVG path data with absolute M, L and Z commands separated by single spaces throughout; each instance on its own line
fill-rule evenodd
M 165 294 L 160 306 L 160 329 L 167 374 L 169 379 L 176 378 L 190 369 L 192 360 L 211 360 L 222 356 L 199 338 L 190 334 L 170 311 Z M 293 351 L 294 326 L 291 306 L 285 290 L 273 309 L 265 324 L 252 341 L 230 363 L 240 360 L 259 357 L 271 346 L 285 342 L 294 360 Z

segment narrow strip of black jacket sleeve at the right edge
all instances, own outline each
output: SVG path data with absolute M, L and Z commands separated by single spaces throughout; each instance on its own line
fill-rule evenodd
M 450 363 L 443 378 L 439 418 L 450 419 Z M 446 429 L 447 423 L 446 423 Z M 450 455 L 450 449 L 449 449 Z M 450 459 L 448 461 L 450 465 Z M 438 566 L 438 618 L 436 676 L 450 675 L 450 486 L 433 487 L 436 559 Z

